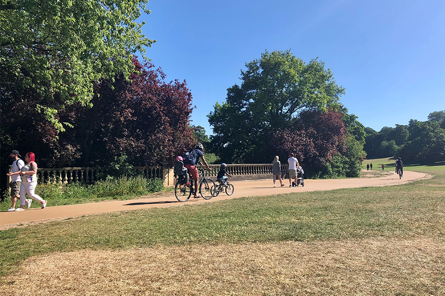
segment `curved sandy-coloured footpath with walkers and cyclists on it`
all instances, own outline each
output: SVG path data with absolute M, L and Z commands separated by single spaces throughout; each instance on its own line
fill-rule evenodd
M 227 196 L 225 192 L 212 198 L 211 200 L 204 200 L 203 198 L 190 198 L 187 202 L 181 203 L 175 197 L 174 192 L 169 192 L 162 197 L 142 198 L 132 200 L 118 200 L 106 201 L 81 205 L 47 207 L 42 209 L 30 209 L 19 212 L 0 212 L 0 229 L 7 229 L 17 226 L 18 223 L 25 222 L 44 222 L 47 220 L 64 219 L 75 216 L 128 211 L 135 209 L 159 208 L 174 205 L 199 204 L 204 202 L 213 202 L 223 199 L 231 199 L 244 196 L 258 196 L 258 195 L 272 195 L 291 192 L 303 191 L 319 191 L 319 190 L 333 190 L 341 188 L 356 188 L 368 186 L 388 186 L 401 185 L 409 181 L 423 179 L 427 176 L 424 173 L 417 172 L 403 172 L 403 178 L 400 180 L 396 174 L 380 178 L 356 178 L 356 179 L 329 179 L 329 180 L 305 180 L 305 186 L 289 187 L 289 180 L 284 180 L 283 187 L 273 188 L 272 180 L 260 181 L 243 181 L 232 182 L 235 191 L 231 196 Z M 279 181 L 276 182 L 279 186 Z M 34 201 L 35 202 L 35 201 Z

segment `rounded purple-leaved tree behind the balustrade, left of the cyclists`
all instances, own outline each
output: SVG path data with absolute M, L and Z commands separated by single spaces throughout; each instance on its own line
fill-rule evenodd
M 133 62 L 136 72 L 130 81 L 119 75 L 114 82 L 102 82 L 93 107 L 77 112 L 73 133 L 83 165 L 103 164 L 103 155 L 127 155 L 134 165 L 173 164 L 194 141 L 192 96 L 185 81 L 166 83 L 153 64 Z

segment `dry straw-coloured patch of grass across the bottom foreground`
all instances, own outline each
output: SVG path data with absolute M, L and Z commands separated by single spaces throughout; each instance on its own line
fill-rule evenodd
M 0 295 L 445 295 L 431 238 L 277 242 L 52 253 Z

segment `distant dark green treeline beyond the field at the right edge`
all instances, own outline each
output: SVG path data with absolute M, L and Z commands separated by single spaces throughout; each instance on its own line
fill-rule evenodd
M 445 111 L 435 111 L 427 121 L 409 120 L 408 125 L 383 127 L 379 132 L 365 127 L 367 158 L 400 156 L 409 163 L 445 160 Z

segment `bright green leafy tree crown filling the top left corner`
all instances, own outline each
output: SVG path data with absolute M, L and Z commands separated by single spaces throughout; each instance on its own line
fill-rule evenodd
M 91 82 L 134 70 L 136 51 L 155 40 L 137 22 L 148 0 L 0 0 L 0 95 L 17 100 L 20 88 L 43 100 L 34 102 L 58 131 L 57 111 L 89 105 Z M 3 108 L 3 106 L 2 106 Z

